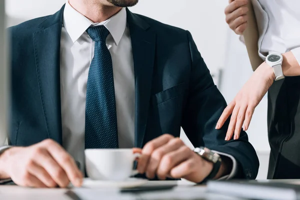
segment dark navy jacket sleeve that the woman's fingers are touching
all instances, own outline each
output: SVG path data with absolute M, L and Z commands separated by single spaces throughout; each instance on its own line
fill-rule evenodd
M 259 161 L 246 132 L 238 140 L 225 141 L 229 120 L 219 130 L 216 122 L 226 107 L 226 101 L 214 85 L 209 70 L 187 31 L 191 56 L 188 98 L 182 117 L 182 128 L 194 146 L 204 145 L 211 150 L 232 155 L 237 161 L 235 178 L 254 179 Z

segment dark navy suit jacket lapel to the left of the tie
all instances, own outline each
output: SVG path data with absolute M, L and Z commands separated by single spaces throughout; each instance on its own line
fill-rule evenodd
M 60 35 L 64 6 L 33 33 L 36 73 L 49 138 L 62 143 L 60 109 Z

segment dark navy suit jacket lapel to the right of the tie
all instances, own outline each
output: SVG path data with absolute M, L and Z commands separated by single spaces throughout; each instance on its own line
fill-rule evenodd
M 156 36 L 149 24 L 128 9 L 127 23 L 135 77 L 135 146 L 142 147 L 151 97 Z

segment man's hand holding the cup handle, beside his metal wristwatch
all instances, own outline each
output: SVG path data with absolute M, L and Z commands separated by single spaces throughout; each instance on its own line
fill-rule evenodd
M 212 163 L 193 152 L 181 139 L 170 134 L 149 141 L 140 151 L 142 155 L 138 158 L 137 170 L 141 174 L 146 173 L 149 179 L 157 175 L 161 180 L 170 177 L 200 182 L 213 167 Z M 225 168 L 222 164 L 215 178 L 225 175 Z

